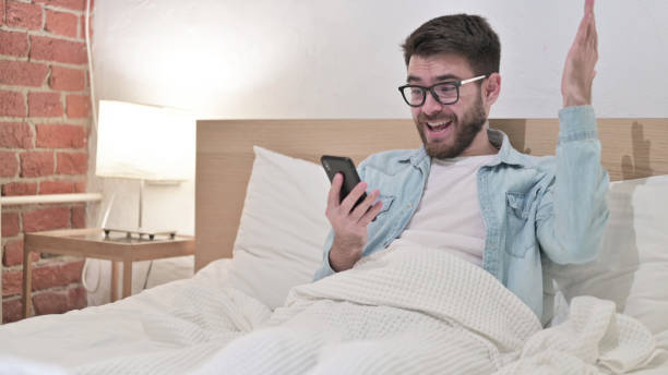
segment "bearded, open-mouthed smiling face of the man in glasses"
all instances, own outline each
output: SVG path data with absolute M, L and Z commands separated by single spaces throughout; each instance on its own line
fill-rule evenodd
M 468 62 L 456 55 L 441 53 L 427 58 L 414 55 L 408 62 L 409 84 L 428 87 L 472 77 L 474 72 Z M 441 105 L 431 93 L 427 93 L 425 104 L 411 107 L 410 112 L 427 155 L 436 158 L 462 155 L 487 121 L 477 83 L 461 86 L 460 100 L 453 105 Z

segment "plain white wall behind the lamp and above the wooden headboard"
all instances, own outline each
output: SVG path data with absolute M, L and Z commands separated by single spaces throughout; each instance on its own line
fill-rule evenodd
M 97 0 L 98 99 L 200 118 L 408 118 L 399 44 L 442 14 L 481 14 L 502 44 L 492 117 L 556 117 L 583 1 Z M 600 117 L 668 117 L 668 1 L 600 0 Z M 110 222 L 136 220 L 131 189 Z M 176 193 L 176 194 L 172 194 Z M 122 195 L 122 194 L 121 194 Z M 134 203 L 135 204 L 135 203 Z M 193 231 L 194 188 L 147 191 L 145 222 Z

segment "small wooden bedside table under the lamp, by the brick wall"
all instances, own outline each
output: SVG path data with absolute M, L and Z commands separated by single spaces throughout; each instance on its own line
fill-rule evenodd
M 111 302 L 118 300 L 119 262 L 123 263 L 123 298 L 131 294 L 132 263 L 194 254 L 194 238 L 177 235 L 154 240 L 127 238 L 124 233 L 105 233 L 99 228 L 64 229 L 24 234 L 23 317 L 33 303 L 31 253 L 76 255 L 111 262 Z

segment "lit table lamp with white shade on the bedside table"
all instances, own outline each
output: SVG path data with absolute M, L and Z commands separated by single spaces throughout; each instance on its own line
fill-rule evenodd
M 138 234 L 151 240 L 156 234 L 174 237 L 176 231 L 147 231 L 142 226 L 144 182 L 178 184 L 192 176 L 194 118 L 164 107 L 100 100 L 95 174 L 139 180 L 139 227 L 103 228 Z

